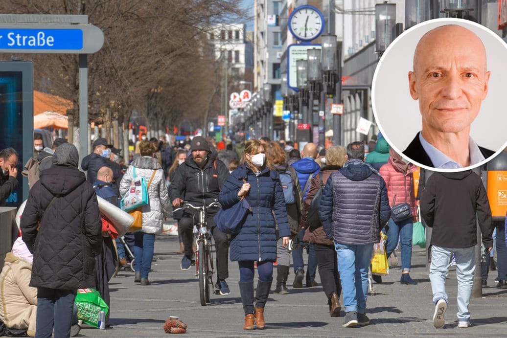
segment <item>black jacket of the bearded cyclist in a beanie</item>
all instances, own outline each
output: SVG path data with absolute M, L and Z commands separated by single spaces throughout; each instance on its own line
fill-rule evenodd
M 202 169 L 195 163 L 194 158 L 189 156 L 176 169 L 169 185 L 169 197 L 171 201 L 180 198 L 195 206 L 208 205 L 218 198 L 227 177 L 229 169 L 211 154 Z

